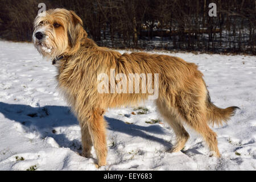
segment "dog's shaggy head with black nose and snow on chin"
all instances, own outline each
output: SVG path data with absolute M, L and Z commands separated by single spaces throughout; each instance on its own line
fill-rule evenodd
M 44 57 L 54 59 L 78 47 L 87 34 L 74 11 L 51 9 L 34 20 L 33 43 Z

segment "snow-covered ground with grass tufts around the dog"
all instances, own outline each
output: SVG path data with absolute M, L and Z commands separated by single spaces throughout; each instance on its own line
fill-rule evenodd
M 184 150 L 166 152 L 174 132 L 147 102 L 106 112 L 108 164 L 97 169 L 94 149 L 93 158 L 79 155 L 80 127 L 55 89 L 51 61 L 30 43 L 0 41 L 0 170 L 255 170 L 256 56 L 166 54 L 199 65 L 214 104 L 241 107 L 228 125 L 213 127 L 220 159 L 188 127 Z

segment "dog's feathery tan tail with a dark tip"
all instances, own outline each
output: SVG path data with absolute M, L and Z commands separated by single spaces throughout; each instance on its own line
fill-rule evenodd
M 210 125 L 216 124 L 217 126 L 222 125 L 223 122 L 228 122 L 230 117 L 236 114 L 236 110 L 240 109 L 237 106 L 227 107 L 226 109 L 221 109 L 217 107 L 210 101 L 210 96 L 208 92 L 207 96 L 207 118 Z

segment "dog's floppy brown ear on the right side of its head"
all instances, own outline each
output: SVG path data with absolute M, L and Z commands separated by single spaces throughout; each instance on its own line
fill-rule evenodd
M 81 38 L 86 38 L 87 33 L 82 28 L 82 19 L 74 12 L 69 11 L 71 13 L 71 20 L 68 25 L 68 39 L 71 47 L 75 47 L 77 40 Z

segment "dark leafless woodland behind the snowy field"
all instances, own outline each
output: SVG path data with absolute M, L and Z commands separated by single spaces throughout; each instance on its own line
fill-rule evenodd
M 255 0 L 0 0 L 0 38 L 30 42 L 40 2 L 74 10 L 100 46 L 255 55 Z

